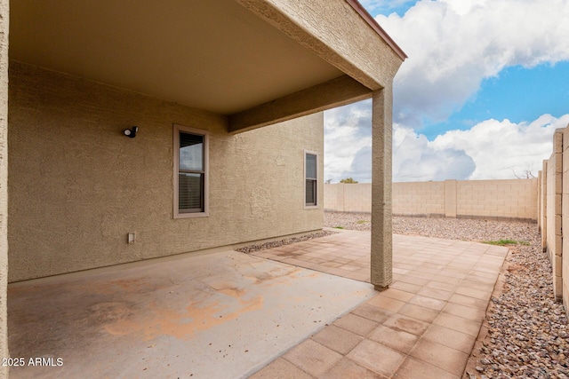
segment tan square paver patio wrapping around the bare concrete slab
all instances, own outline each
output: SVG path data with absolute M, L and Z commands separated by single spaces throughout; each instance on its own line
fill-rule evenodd
M 252 253 L 369 281 L 370 233 L 345 231 Z M 460 378 L 507 248 L 393 236 L 394 281 L 262 368 L 260 378 Z

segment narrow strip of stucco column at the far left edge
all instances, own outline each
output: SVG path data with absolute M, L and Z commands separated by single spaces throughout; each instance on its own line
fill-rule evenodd
M 0 0 L 0 358 L 8 351 L 8 30 L 9 3 Z M 0 367 L 0 378 L 8 377 L 8 367 Z

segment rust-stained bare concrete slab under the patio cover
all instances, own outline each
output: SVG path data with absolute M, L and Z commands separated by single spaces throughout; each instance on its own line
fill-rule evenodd
M 12 284 L 23 377 L 238 378 L 376 295 L 369 283 L 227 251 Z

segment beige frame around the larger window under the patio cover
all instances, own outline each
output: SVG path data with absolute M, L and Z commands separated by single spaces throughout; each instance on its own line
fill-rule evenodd
M 180 173 L 180 132 L 204 136 L 204 211 L 180 212 L 179 173 Z M 190 128 L 184 125 L 173 124 L 173 218 L 209 217 L 209 146 L 210 136 L 208 130 Z

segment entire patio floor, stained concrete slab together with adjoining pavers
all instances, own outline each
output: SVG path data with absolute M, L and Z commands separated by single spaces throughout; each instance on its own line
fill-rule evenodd
M 12 357 L 63 366 L 11 376 L 459 379 L 508 249 L 393 240 L 381 293 L 353 231 L 13 284 Z

